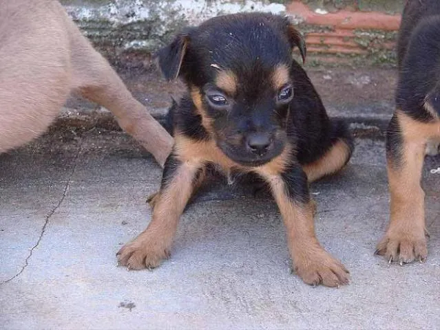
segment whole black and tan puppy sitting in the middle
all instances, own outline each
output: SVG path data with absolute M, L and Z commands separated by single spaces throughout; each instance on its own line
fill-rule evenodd
M 285 17 L 233 14 L 180 34 L 158 54 L 166 78 L 188 92 L 174 104 L 174 151 L 165 163 L 151 223 L 118 252 L 132 270 L 169 256 L 180 214 L 203 170 L 253 173 L 270 186 L 286 225 L 297 274 L 308 284 L 348 282 L 344 265 L 319 244 L 308 181 L 335 173 L 352 152 L 346 126 L 331 122 L 304 69 L 306 47 Z

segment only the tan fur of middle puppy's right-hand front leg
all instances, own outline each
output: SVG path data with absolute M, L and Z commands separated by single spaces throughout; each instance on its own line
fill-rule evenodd
M 336 287 L 348 282 L 348 271 L 319 244 L 315 236 L 313 214 L 315 203 L 297 204 L 286 195 L 279 175 L 261 170 L 269 182 L 286 226 L 289 251 L 295 272 L 310 285 L 323 283 Z

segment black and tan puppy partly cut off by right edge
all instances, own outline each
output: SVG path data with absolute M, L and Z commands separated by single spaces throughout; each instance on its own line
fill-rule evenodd
M 398 56 L 396 110 L 386 141 L 390 223 L 376 252 L 402 264 L 428 254 L 420 181 L 426 145 L 440 138 L 440 1 L 406 3 Z

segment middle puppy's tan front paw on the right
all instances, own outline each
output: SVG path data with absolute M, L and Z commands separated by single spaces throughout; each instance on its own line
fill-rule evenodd
M 313 287 L 319 284 L 339 287 L 349 282 L 346 267 L 324 250 L 296 260 L 293 270 L 302 281 Z

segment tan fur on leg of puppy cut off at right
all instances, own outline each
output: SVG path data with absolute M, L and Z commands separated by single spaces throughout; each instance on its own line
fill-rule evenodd
M 430 123 L 412 120 L 399 109 L 397 120 L 404 140 L 401 164 L 388 161 L 390 187 L 390 223 L 377 245 L 377 253 L 390 261 L 409 263 L 426 259 L 425 193 L 421 188 L 421 171 L 426 143 L 440 136 L 440 121 Z

